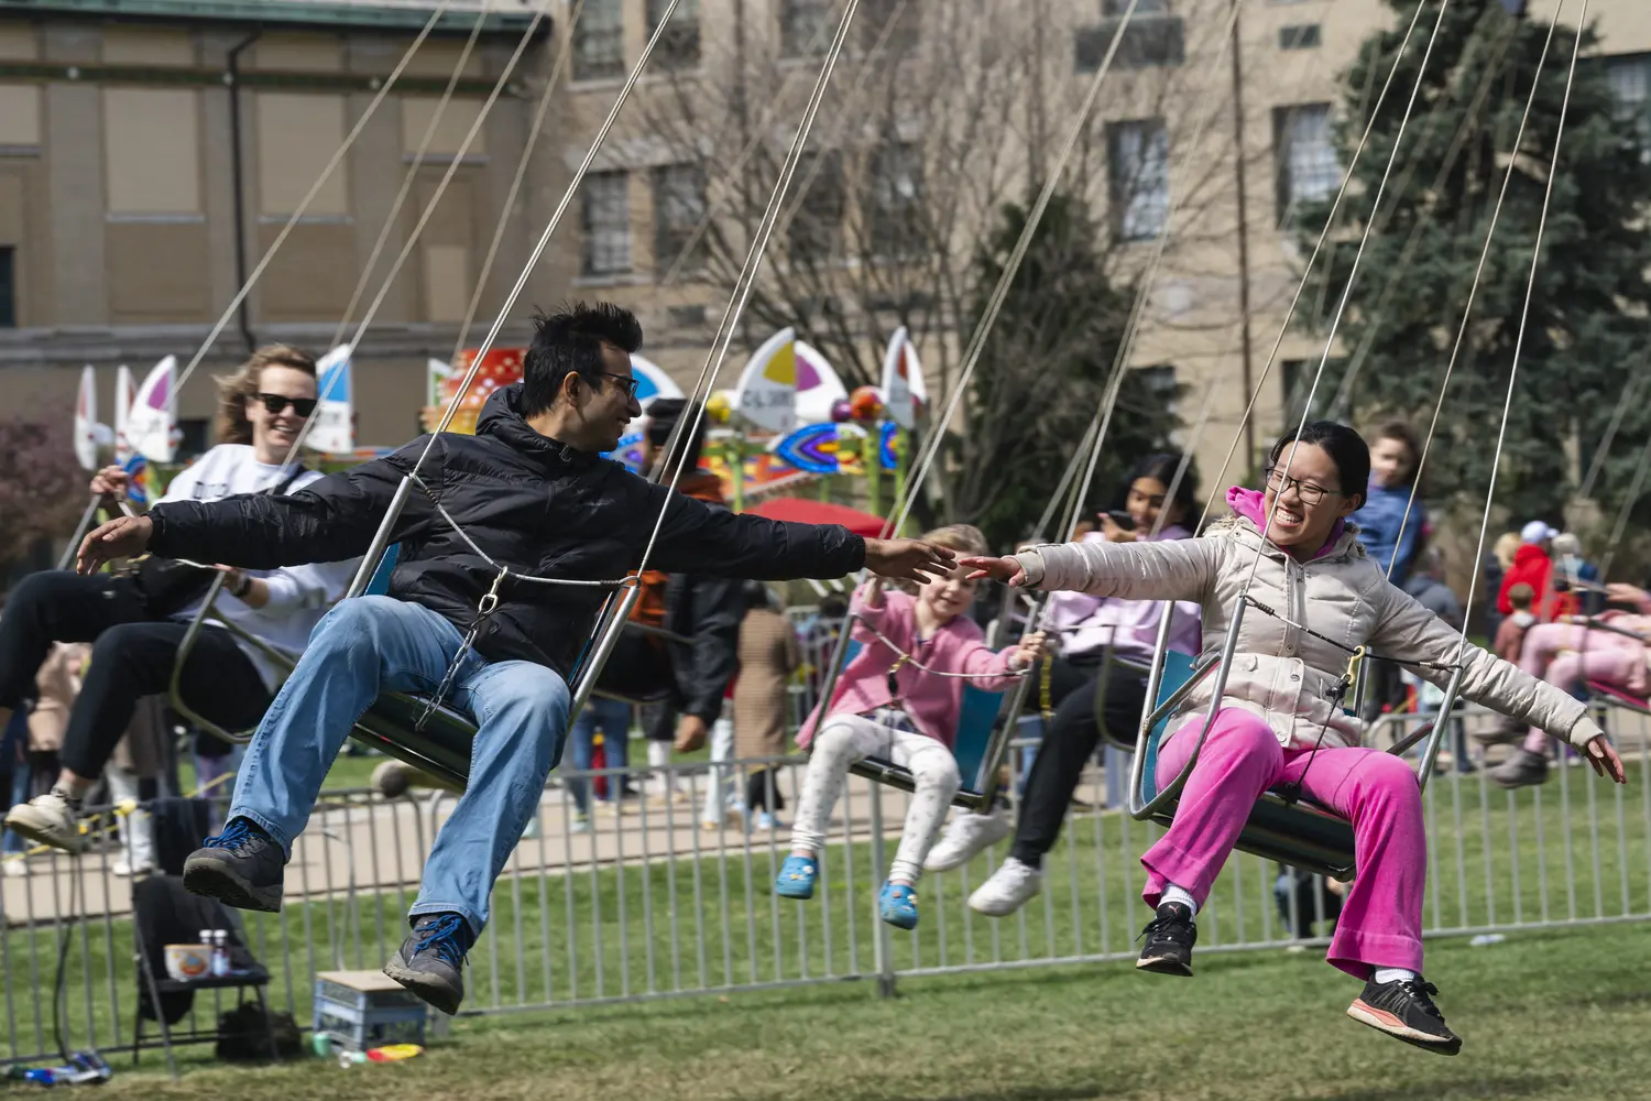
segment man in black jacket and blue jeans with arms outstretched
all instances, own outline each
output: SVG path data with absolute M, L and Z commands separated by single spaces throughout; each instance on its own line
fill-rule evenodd
M 315 627 L 248 749 L 223 834 L 188 858 L 185 885 L 279 910 L 292 842 L 357 716 L 380 690 L 446 688 L 477 721 L 469 787 L 431 847 L 411 933 L 385 974 L 449 1014 L 494 880 L 561 754 L 566 680 L 613 588 L 603 583 L 639 566 L 660 512 L 649 561 L 665 571 L 781 579 L 863 566 L 923 581 L 954 558 L 918 540 L 736 517 L 650 485 L 601 457 L 641 413 L 637 320 L 573 305 L 535 328 L 523 381 L 487 399 L 475 436 L 424 436 L 287 497 L 160 505 L 102 525 L 79 550 L 81 573 L 144 551 L 243 568 L 355 558 L 416 470 L 388 596 L 347 599 Z

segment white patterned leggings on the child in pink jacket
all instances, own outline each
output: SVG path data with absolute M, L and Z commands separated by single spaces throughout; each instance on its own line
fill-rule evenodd
M 842 794 L 849 766 L 862 758 L 882 758 L 905 766 L 916 781 L 900 848 L 888 865 L 890 880 L 916 883 L 923 875 L 923 858 L 946 820 L 951 797 L 958 794 L 958 759 L 928 735 L 887 726 L 865 715 L 830 715 L 821 723 L 814 736 L 814 754 L 802 776 L 791 847 L 816 855 L 826 847 L 826 825 Z

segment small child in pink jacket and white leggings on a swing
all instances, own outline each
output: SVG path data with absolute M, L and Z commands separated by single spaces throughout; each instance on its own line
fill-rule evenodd
M 959 555 L 987 553 L 986 536 L 964 523 L 923 538 Z M 875 579 L 855 593 L 850 612 L 859 617 L 854 640 L 860 652 L 842 670 L 832 700 L 817 706 L 797 733 L 797 744 L 812 744 L 812 756 L 776 895 L 814 898 L 827 819 L 842 794 L 849 766 L 870 756 L 883 758 L 911 771 L 916 794 L 877 910 L 892 926 L 916 928 L 913 888 L 961 784 L 951 743 L 963 685 L 969 682 L 987 692 L 1005 688 L 1043 654 L 1042 634 L 1027 636 L 1005 650 L 987 649 L 981 627 L 967 616 L 979 586 L 967 574 L 967 569 L 953 569 L 925 584 L 916 596 L 883 591 Z

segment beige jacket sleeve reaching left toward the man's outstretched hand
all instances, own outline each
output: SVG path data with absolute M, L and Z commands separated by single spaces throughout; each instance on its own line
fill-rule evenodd
M 1222 540 L 1047 543 L 1015 558 L 1027 584 L 1126 601 L 1194 601 L 1215 584 Z

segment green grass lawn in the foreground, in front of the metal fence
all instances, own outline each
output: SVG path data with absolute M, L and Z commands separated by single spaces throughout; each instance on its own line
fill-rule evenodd
M 462 1018 L 424 1056 L 348 1071 L 195 1065 L 102 1096 L 494 1101 L 1456 1101 L 1651 1093 L 1651 926 L 1463 939 L 1428 977 L 1466 1045 L 1441 1058 L 1354 1023 L 1314 952 L 1210 954 L 1190 982 L 1095 964 Z

